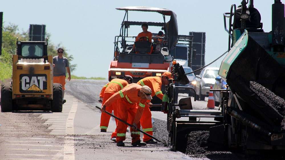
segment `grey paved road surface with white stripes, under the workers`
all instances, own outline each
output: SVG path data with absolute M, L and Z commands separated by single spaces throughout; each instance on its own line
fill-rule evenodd
M 62 113 L 0 113 L 0 159 L 192 159 L 162 145 L 133 147 L 129 132 L 127 147 L 117 147 L 109 140 L 113 119 L 106 133 L 99 132 L 101 113 L 94 106 L 100 105 L 98 95 L 105 83 L 67 82 Z M 155 113 L 155 118 L 165 116 Z

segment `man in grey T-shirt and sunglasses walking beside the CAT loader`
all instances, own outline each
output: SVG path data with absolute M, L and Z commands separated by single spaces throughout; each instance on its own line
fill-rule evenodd
M 63 52 L 63 48 L 58 48 L 58 55 L 53 57 L 53 82 L 60 83 L 62 85 L 62 104 L 66 102 L 66 100 L 64 99 L 66 70 L 68 72 L 68 81 L 70 81 L 71 79 L 69 62 L 68 59 L 63 56 Z

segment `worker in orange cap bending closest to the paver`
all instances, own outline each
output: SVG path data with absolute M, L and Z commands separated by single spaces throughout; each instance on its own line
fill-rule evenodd
M 149 86 L 151 89 L 151 97 L 156 95 L 159 99 L 162 99 L 163 94 L 161 91 L 161 86 L 162 85 L 168 85 L 168 79 L 172 79 L 171 73 L 170 72 L 164 72 L 160 77 L 146 77 L 143 78 L 142 80 L 139 80 L 137 84 L 141 86 Z M 152 122 L 151 122 L 151 112 L 150 112 L 150 101 L 145 105 L 144 111 L 143 111 L 143 116 L 141 118 L 141 126 L 143 128 L 143 131 L 152 135 Z M 143 142 L 154 144 L 157 143 L 156 140 L 150 138 L 149 136 L 144 135 L 143 136 Z

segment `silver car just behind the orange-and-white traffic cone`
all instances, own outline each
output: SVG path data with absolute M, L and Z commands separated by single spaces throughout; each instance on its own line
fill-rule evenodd
M 192 81 L 194 89 L 196 90 L 196 99 L 204 101 L 205 97 L 209 95 L 210 87 L 214 86 L 215 78 L 218 76 L 218 67 L 207 67 L 202 70 L 199 75 Z

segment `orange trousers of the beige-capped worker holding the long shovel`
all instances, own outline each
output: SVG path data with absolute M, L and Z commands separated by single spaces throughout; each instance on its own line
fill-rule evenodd
M 129 123 L 133 124 L 135 115 L 137 113 L 137 104 L 131 104 L 124 99 L 119 99 L 117 101 L 117 113 L 118 117 L 124 121 L 127 122 L 129 118 Z M 137 124 L 137 127 L 140 128 L 140 123 Z M 126 139 L 126 132 L 127 132 L 127 124 L 117 121 L 117 138 L 116 142 L 124 141 Z M 131 137 L 132 137 L 132 143 L 137 142 L 140 140 L 140 132 L 137 130 L 134 130 L 131 127 Z

